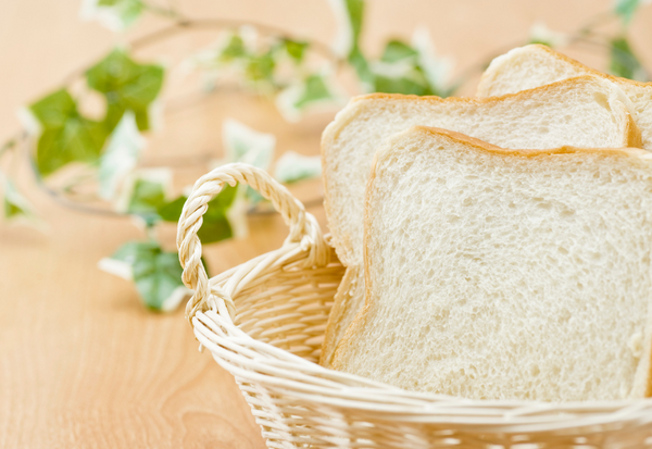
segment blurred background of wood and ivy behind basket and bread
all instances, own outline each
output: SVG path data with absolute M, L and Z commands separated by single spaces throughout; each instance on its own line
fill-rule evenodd
M 647 3 L 0 2 L 0 447 L 264 447 L 184 320 L 189 186 L 254 163 L 327 227 L 319 137 L 349 98 L 473 96 L 530 42 L 648 82 Z M 211 211 L 211 275 L 287 233 L 244 188 Z

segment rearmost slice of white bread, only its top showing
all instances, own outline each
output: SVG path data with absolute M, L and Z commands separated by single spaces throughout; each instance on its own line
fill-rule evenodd
M 493 97 L 532 89 L 580 75 L 609 79 L 629 97 L 641 130 L 642 147 L 652 150 L 652 83 L 640 83 L 607 75 L 552 50 L 534 43 L 515 48 L 491 61 L 478 85 L 478 97 Z

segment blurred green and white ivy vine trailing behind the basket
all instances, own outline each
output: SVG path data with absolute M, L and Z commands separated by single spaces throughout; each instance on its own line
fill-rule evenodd
M 643 0 L 617 0 L 611 11 L 592 17 L 574 34 L 560 34 L 539 24 L 522 43 L 551 47 L 585 42 L 609 54 L 609 71 L 638 80 L 649 73 L 637 58 L 627 29 Z M 324 104 L 341 105 L 351 92 L 340 87 L 337 74 L 348 66 L 355 73 L 360 92 L 453 95 L 465 76 L 486 66 L 481 61 L 457 78 L 450 77 L 451 63 L 439 57 L 427 32 L 419 29 L 411 41 L 387 41 L 379 58 L 369 58 L 360 39 L 364 30 L 364 0 L 331 2 L 339 20 L 336 50 L 310 38 L 297 38 L 269 26 L 236 24 L 228 21 L 191 20 L 178 11 L 143 0 L 85 0 L 82 16 L 98 21 L 120 34 L 135 26 L 145 14 L 170 21 L 170 26 L 133 42 L 147 45 L 166 35 L 192 27 L 221 29 L 218 42 L 188 58 L 202 72 L 210 86 L 220 86 L 224 73 L 236 75 L 242 88 L 271 98 L 288 121 L 297 121 Z M 619 32 L 605 35 L 601 26 L 617 22 Z M 315 58 L 319 61 L 315 63 Z M 493 57 L 490 55 L 490 57 Z M 488 59 L 490 60 L 490 58 Z M 23 114 L 29 135 L 29 154 L 39 178 L 47 182 L 73 165 L 91 171 L 97 197 L 112 204 L 115 213 L 129 215 L 147 229 L 147 239 L 129 241 L 100 261 L 102 270 L 135 284 L 142 302 L 151 310 L 174 310 L 188 294 L 180 282 L 181 267 L 174 251 L 165 251 L 153 229 L 160 223 L 178 221 L 185 195 L 171 195 L 170 169 L 139 166 L 147 134 L 155 125 L 152 110 L 161 99 L 166 67 L 137 60 L 130 48 L 120 47 L 79 72 L 85 89 L 73 93 L 70 83 L 35 100 Z M 103 115 L 84 112 L 85 92 L 99 93 Z M 223 124 L 224 162 L 244 161 L 268 170 L 275 151 L 274 136 L 259 133 L 236 121 Z M 15 152 L 24 133 L 0 147 L 2 161 Z M 276 163 L 275 176 L 296 183 L 319 176 L 318 158 L 286 152 Z M 74 183 L 73 183 L 74 184 Z M 38 221 L 38 214 L 17 188 L 11 170 L 0 170 L 2 211 L 5 222 Z M 246 235 L 246 213 L 261 201 L 253 190 L 227 187 L 210 203 L 199 236 L 212 244 Z

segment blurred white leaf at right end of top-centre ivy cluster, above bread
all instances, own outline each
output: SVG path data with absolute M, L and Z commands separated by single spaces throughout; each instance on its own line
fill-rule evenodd
M 418 64 L 435 93 L 446 96 L 451 89 L 453 61 L 437 54 L 430 33 L 419 27 L 412 36 L 412 47 L 418 52 Z

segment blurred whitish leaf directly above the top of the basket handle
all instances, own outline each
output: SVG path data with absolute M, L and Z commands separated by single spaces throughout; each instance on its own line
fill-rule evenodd
M 276 137 L 260 133 L 249 126 L 227 119 L 222 125 L 222 139 L 226 162 L 246 162 L 267 170 L 274 157 Z

